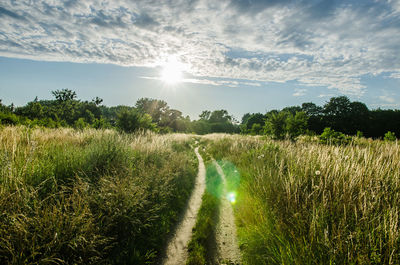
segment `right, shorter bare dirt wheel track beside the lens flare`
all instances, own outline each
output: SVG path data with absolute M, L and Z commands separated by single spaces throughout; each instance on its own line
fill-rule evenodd
M 219 264 L 241 264 L 233 209 L 227 198 L 226 177 L 221 166 L 215 161 L 214 164 L 224 185 L 216 230 L 217 260 Z

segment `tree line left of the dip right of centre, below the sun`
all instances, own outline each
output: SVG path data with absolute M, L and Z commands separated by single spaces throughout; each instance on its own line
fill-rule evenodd
M 6 106 L 0 100 L 0 124 L 44 126 L 50 128 L 116 128 L 126 133 L 151 130 L 160 133 L 212 132 L 239 133 L 239 126 L 226 110 L 203 111 L 198 120 L 190 120 L 182 112 L 172 109 L 163 100 L 141 98 L 134 106 L 102 105 L 99 97 L 91 101 L 77 98 L 75 91 L 61 89 L 51 92 L 53 99 L 37 97 L 25 106 Z

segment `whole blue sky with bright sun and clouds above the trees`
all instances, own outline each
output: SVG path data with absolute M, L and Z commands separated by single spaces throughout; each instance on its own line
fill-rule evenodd
M 400 0 L 0 0 L 0 99 L 69 88 L 237 119 L 346 95 L 400 106 Z

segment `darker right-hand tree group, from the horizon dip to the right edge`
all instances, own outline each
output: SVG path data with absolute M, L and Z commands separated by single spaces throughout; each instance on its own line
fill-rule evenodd
M 400 110 L 369 110 L 346 96 L 332 97 L 323 106 L 312 102 L 271 110 L 265 114 L 247 113 L 240 125 L 244 134 L 269 134 L 294 138 L 300 134 L 322 134 L 330 128 L 346 135 L 381 138 L 387 132 L 400 135 Z

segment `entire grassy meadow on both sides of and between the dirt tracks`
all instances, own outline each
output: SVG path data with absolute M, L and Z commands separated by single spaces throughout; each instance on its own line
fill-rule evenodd
M 24 126 L 0 128 L 0 263 L 160 263 L 194 187 L 196 145 L 206 191 L 187 264 L 216 260 L 214 158 L 235 195 L 243 264 L 400 263 L 397 141 Z

